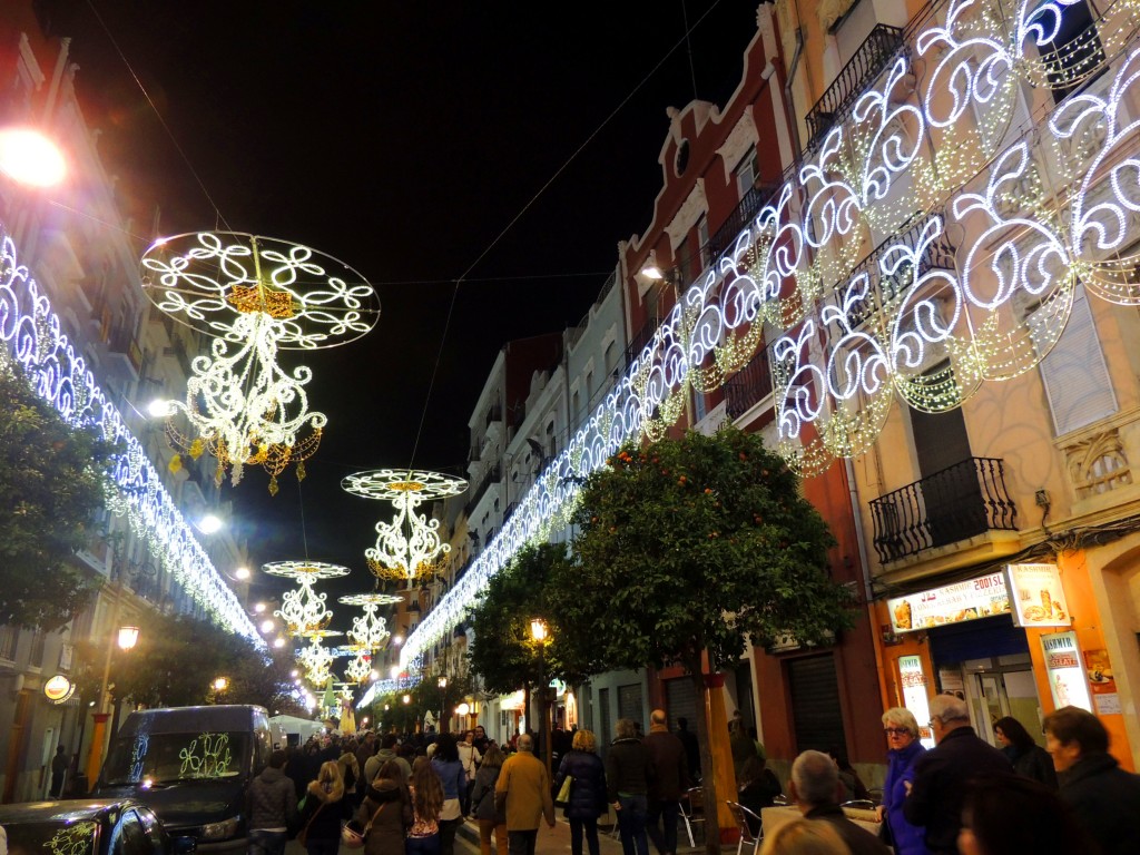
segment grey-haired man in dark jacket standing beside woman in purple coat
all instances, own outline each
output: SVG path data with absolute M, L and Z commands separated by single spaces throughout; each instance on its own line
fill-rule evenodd
M 969 780 L 993 772 L 1011 774 L 1013 766 L 978 738 L 966 701 L 952 694 L 930 701 L 930 727 L 938 744 L 914 764 L 914 784 L 903 803 L 903 816 L 926 828 L 923 839 L 931 855 L 956 855 Z

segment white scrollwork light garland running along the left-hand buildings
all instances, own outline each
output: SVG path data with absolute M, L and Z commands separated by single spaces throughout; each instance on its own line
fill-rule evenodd
M 87 361 L 63 332 L 59 317 L 28 269 L 18 262 L 16 245 L 0 226 L 0 341 L 3 358 L 14 359 L 32 388 L 68 424 L 93 426 L 120 448 L 112 480 L 112 511 L 125 514 L 136 537 L 146 543 L 163 570 L 220 626 L 259 648 L 264 642 L 237 596 L 226 585 L 193 529 L 162 484 L 141 443 L 122 414 L 107 400 Z

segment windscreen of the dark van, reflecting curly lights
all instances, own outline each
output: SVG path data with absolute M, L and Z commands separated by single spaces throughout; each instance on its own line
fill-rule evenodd
M 250 733 L 136 733 L 115 740 L 103 768 L 104 783 L 124 784 L 237 777 L 246 773 Z

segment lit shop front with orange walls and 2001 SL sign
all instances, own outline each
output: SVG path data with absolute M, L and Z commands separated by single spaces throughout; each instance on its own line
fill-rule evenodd
M 1085 573 L 1057 563 L 1008 564 L 889 597 L 877 613 L 885 700 L 914 714 L 928 747 L 929 700 L 938 693 L 962 698 L 974 728 L 994 746 L 994 723 L 1005 716 L 1044 746 L 1044 717 L 1072 705 L 1121 734 L 1114 754 L 1131 767 Z

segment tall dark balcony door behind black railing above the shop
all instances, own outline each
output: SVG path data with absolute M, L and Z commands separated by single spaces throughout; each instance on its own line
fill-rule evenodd
M 944 546 L 985 531 L 985 505 L 961 408 L 945 413 L 911 409 L 911 431 L 930 545 Z

